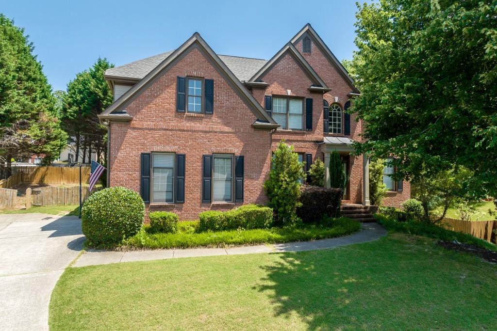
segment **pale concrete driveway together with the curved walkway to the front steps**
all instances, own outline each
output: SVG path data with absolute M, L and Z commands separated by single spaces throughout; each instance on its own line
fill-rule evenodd
M 136 252 L 90 250 L 75 266 L 213 255 L 298 252 L 377 240 L 387 234 L 377 223 L 350 236 L 311 242 Z M 64 269 L 82 251 L 81 220 L 46 214 L 0 215 L 0 330 L 48 330 L 50 295 Z

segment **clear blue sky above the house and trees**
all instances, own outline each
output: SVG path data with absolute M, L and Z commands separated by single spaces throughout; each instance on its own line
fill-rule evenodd
M 355 1 L 0 0 L 34 43 L 54 90 L 98 57 L 120 66 L 173 50 L 195 31 L 218 54 L 270 59 L 311 23 L 339 60 L 355 50 Z M 318 9 L 319 8 L 319 9 Z

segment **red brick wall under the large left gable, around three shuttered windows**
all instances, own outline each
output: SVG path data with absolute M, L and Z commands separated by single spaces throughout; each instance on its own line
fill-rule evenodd
M 176 112 L 176 77 L 214 79 L 214 114 Z M 185 203 L 147 205 L 148 210 L 198 219 L 199 212 L 231 209 L 237 204 L 201 203 L 202 155 L 245 155 L 244 203 L 264 203 L 263 182 L 270 168 L 270 132 L 250 127 L 254 114 L 221 74 L 193 49 L 126 107 L 133 120 L 111 124 L 110 185 L 140 190 L 140 153 L 172 151 L 186 154 Z

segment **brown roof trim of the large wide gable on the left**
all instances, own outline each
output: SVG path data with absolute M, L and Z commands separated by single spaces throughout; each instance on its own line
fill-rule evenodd
M 112 113 L 119 113 L 120 116 L 125 112 L 124 107 L 128 105 L 136 96 L 140 95 L 143 90 L 148 88 L 156 78 L 160 77 L 162 73 L 167 71 L 171 66 L 175 64 L 175 60 L 181 55 L 188 53 L 192 47 L 197 47 L 204 56 L 208 57 L 213 64 L 218 66 L 218 70 L 223 73 L 226 79 L 232 83 L 232 87 L 235 92 L 241 97 L 241 99 L 248 105 L 248 108 L 254 113 L 257 120 L 254 122 L 253 126 L 256 127 L 267 127 L 276 128 L 278 124 L 267 114 L 267 112 L 262 108 L 262 106 L 255 100 L 255 98 L 248 92 L 247 88 L 242 85 L 240 80 L 235 76 L 235 74 L 226 66 L 226 64 L 221 61 L 219 56 L 214 53 L 210 46 L 205 42 L 205 40 L 200 36 L 198 32 L 195 32 L 186 42 L 183 43 L 178 49 L 173 51 L 169 56 L 167 56 L 159 65 L 148 72 L 142 79 L 140 79 L 133 87 L 131 87 L 126 93 L 124 93 L 119 99 L 117 99 L 112 105 L 110 105 L 101 115 L 98 117 L 100 119 L 112 119 L 114 118 Z M 129 115 L 128 115 L 129 116 Z M 131 118 L 131 116 L 129 116 Z

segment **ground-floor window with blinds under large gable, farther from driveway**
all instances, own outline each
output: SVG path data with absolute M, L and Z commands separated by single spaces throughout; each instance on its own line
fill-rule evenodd
M 232 201 L 233 159 L 214 156 L 214 201 Z

